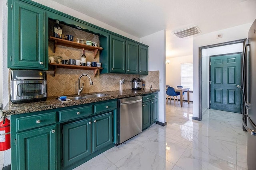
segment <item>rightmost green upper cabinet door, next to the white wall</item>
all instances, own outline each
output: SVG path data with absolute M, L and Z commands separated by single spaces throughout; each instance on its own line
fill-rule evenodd
M 139 74 L 148 74 L 148 47 L 139 45 Z

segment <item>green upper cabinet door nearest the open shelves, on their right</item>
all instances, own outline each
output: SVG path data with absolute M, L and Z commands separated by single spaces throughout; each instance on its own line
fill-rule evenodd
M 125 39 L 110 35 L 110 72 L 125 73 Z

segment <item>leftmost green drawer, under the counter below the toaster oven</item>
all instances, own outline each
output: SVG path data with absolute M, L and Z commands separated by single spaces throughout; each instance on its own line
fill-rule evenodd
M 16 119 L 16 131 L 24 131 L 26 129 L 50 125 L 52 123 L 56 123 L 55 111 L 40 115 L 20 117 Z

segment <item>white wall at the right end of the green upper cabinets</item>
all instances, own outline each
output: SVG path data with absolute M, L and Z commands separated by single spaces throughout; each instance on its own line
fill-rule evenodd
M 165 115 L 165 52 L 166 31 L 158 31 L 140 39 L 148 47 L 148 71 L 159 70 L 158 121 L 166 122 Z

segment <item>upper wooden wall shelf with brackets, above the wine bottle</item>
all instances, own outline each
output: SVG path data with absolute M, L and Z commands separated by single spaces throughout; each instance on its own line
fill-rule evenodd
M 77 43 L 77 42 L 74 42 L 74 41 L 68 41 L 66 39 L 60 39 L 60 38 L 56 38 L 56 37 L 50 37 L 49 40 L 54 41 L 54 47 L 53 47 L 53 52 L 54 53 L 56 51 L 56 45 L 63 45 L 63 46 L 66 46 L 66 47 L 73 47 L 73 48 L 77 48 L 77 49 L 85 49 L 85 50 L 88 50 L 88 51 L 94 51 L 94 59 L 95 59 L 98 51 L 103 50 L 103 48 L 101 48 L 101 47 L 94 47 L 94 46 L 91 46 L 91 45 Z

